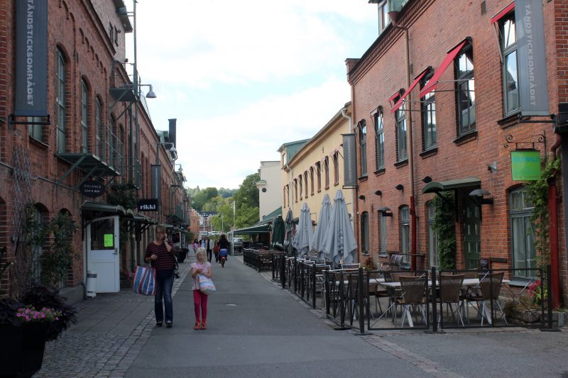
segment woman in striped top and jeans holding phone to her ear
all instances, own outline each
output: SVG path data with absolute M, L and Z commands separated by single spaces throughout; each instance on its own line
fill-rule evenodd
M 150 262 L 155 268 L 155 296 L 154 313 L 155 325 L 161 327 L 164 321 L 165 326 L 173 326 L 173 273 L 175 268 L 174 249 L 170 245 L 168 235 L 163 226 L 155 227 L 155 240 L 146 247 L 144 260 Z

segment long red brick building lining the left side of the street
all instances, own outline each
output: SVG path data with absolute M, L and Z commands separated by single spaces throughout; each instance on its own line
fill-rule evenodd
M 26 248 L 21 232 L 29 204 L 36 219 L 68 213 L 78 226 L 75 259 L 61 282 L 72 300 L 82 298 L 87 270 L 99 271 L 99 290 L 116 291 L 119 269 L 141 262 L 151 225 L 187 223 L 175 120 L 169 133 L 156 132 L 140 90 L 147 83 L 126 59 L 134 16 L 122 0 L 0 4 L 0 263 L 15 263 L 0 276 L 0 295 L 17 294 L 41 274 L 42 248 Z M 107 194 L 95 197 L 85 185 Z M 159 211 L 109 204 L 117 191 L 131 199 L 156 194 Z

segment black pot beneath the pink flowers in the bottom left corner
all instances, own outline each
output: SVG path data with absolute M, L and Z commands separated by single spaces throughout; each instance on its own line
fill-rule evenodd
M 0 377 L 31 377 L 41 369 L 45 323 L 0 324 Z

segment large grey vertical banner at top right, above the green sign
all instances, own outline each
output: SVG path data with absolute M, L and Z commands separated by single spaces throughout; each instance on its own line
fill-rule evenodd
M 548 116 L 542 0 L 515 0 L 515 29 L 521 114 Z

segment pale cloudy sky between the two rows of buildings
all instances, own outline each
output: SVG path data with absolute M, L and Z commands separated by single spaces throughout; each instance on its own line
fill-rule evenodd
M 138 0 L 136 28 L 154 127 L 177 119 L 185 187 L 238 189 L 350 101 L 345 60 L 376 40 L 378 20 L 368 0 Z

